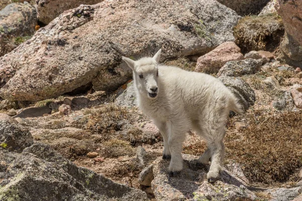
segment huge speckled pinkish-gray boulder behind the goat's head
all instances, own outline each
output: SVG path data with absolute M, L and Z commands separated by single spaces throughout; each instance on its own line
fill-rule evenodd
M 135 59 L 160 48 L 162 60 L 206 53 L 234 41 L 238 18 L 214 0 L 82 5 L 0 58 L 0 96 L 41 100 L 89 82 L 95 90 L 115 90 L 131 77 L 122 55 Z

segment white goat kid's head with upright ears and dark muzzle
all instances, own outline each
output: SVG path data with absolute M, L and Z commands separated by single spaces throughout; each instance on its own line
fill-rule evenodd
M 155 98 L 159 93 L 158 88 L 158 63 L 162 49 L 154 57 L 144 57 L 138 61 L 122 57 L 133 71 L 133 79 L 138 92 L 149 98 Z

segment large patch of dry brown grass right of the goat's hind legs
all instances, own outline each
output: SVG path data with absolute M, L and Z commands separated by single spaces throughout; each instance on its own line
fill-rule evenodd
M 255 182 L 284 182 L 302 166 L 302 112 L 246 115 L 249 126 L 235 131 L 231 120 L 225 138 L 226 158 L 242 164 Z

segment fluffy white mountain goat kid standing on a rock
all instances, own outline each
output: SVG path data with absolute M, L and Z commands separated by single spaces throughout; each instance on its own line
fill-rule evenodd
M 138 61 L 122 57 L 133 70 L 138 107 L 159 128 L 164 139 L 163 159 L 170 159 L 169 175 L 183 169 L 182 143 L 190 130 L 207 142 L 198 159 L 206 165 L 211 159 L 208 182 L 219 177 L 224 158 L 225 121 L 230 110 L 242 114 L 237 98 L 215 77 L 159 64 L 156 55 Z

